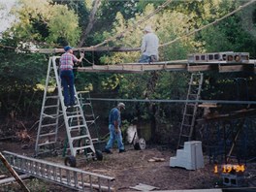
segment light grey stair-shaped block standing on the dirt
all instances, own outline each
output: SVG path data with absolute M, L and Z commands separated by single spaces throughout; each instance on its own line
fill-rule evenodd
M 204 168 L 202 142 L 185 142 L 183 149 L 176 150 L 176 157 L 170 158 L 170 167 L 181 167 L 186 170 Z

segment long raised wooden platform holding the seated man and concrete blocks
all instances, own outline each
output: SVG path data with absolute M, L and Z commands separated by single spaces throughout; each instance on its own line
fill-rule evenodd
M 80 67 L 79 72 L 87 73 L 144 73 L 148 71 L 187 71 L 218 73 L 252 72 L 256 74 L 256 60 L 244 63 L 227 63 L 226 61 L 189 63 L 188 60 L 163 61 L 155 63 L 123 63 L 114 65 L 93 65 L 91 67 Z

